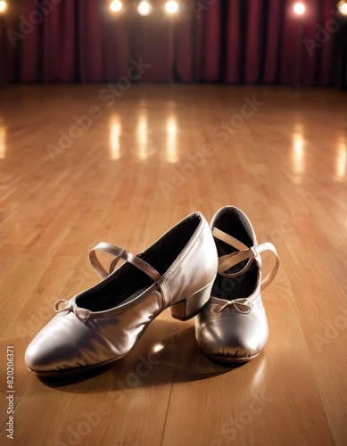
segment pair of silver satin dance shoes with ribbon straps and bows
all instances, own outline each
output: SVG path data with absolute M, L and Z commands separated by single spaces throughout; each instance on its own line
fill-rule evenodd
M 108 270 L 96 252 L 112 255 Z M 266 277 L 261 252 L 275 254 Z M 116 268 L 117 262 L 125 262 Z M 243 211 L 226 206 L 209 227 L 195 212 L 137 255 L 101 243 L 89 260 L 102 277 L 70 301 L 54 304 L 56 315 L 25 353 L 38 376 L 63 376 L 105 366 L 128 353 L 145 328 L 167 308 L 180 320 L 195 318 L 202 351 L 219 362 L 246 362 L 268 341 L 260 292 L 277 273 L 273 244 L 257 244 Z

